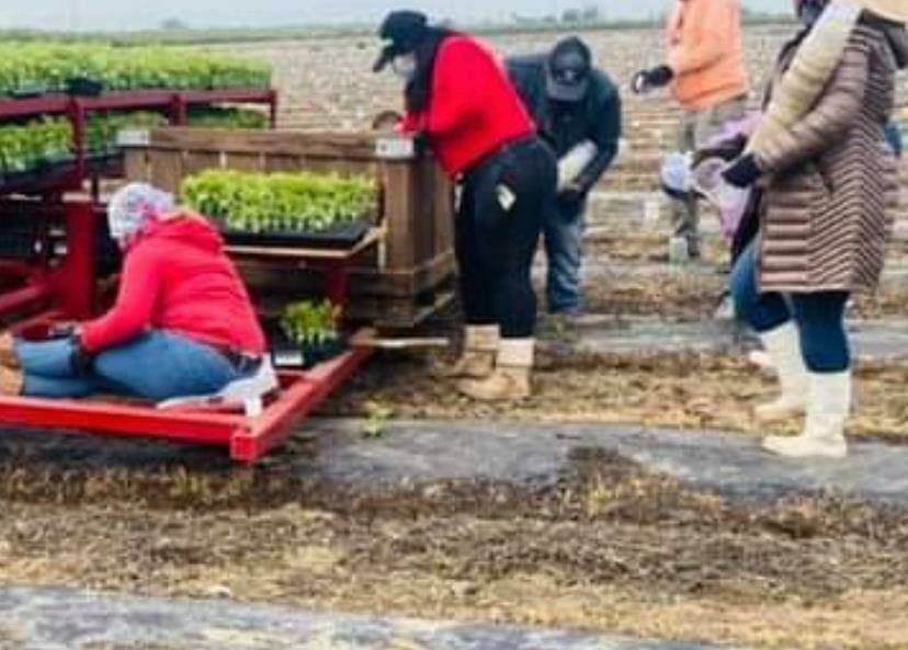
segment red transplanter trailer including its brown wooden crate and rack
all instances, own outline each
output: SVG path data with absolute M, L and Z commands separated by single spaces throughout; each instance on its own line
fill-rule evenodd
M 115 264 L 105 260 L 103 247 L 99 248 L 106 218 L 100 191 L 104 180 L 125 175 L 175 190 L 185 175 L 220 167 L 371 173 L 382 187 L 375 224 L 351 248 L 230 250 L 253 284 L 262 309 L 275 295 L 294 295 L 297 287 L 318 282 L 325 295 L 349 306 L 349 312 L 364 324 L 406 328 L 450 299 L 451 187 L 431 159 L 406 153 L 406 142 L 404 155 L 401 142 L 393 144 L 388 155 L 387 142 L 372 136 L 325 136 L 319 140 L 318 136 L 276 132 L 173 128 L 133 141 L 125 160 L 118 156 L 93 160 L 86 153 L 86 117 L 92 111 L 170 110 L 172 122 L 180 124 L 186 106 L 219 102 L 266 104 L 273 124 L 276 96 L 271 91 L 137 92 L 88 100 L 0 102 L 0 118 L 69 115 L 76 142 L 75 159 L 65 169 L 0 181 L 4 196 L 0 203 L 0 317 L 13 332 L 38 338 L 56 321 L 97 315 L 109 296 L 109 272 L 115 271 Z M 25 223 L 26 232 L 9 230 L 9 224 L 15 223 Z M 21 239 L 19 243 L 13 235 Z M 367 303 L 364 313 L 357 315 L 357 301 Z M 376 313 L 386 322 L 375 318 Z M 161 410 L 117 399 L 16 397 L 0 398 L 0 425 L 223 446 L 234 459 L 253 463 L 286 440 L 299 421 L 370 356 L 368 346 L 356 344 L 362 337 L 351 340 L 350 350 L 329 362 L 308 370 L 280 372 L 281 390 L 258 413 L 246 413 L 232 404 Z

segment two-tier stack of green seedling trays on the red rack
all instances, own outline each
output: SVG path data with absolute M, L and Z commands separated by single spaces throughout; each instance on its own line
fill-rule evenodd
M 0 193 L 81 190 L 88 178 L 121 175 L 124 129 L 265 126 L 270 84 L 266 66 L 180 48 L 2 44 Z

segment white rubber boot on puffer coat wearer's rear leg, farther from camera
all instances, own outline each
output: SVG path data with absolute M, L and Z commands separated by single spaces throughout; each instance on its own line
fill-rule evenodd
M 801 352 L 801 334 L 794 322 L 760 334 L 781 388 L 771 402 L 758 404 L 753 415 L 760 422 L 776 422 L 803 415 L 807 407 L 807 366 Z

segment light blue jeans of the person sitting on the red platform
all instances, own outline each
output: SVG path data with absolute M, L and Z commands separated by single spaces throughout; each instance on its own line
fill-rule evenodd
M 72 368 L 69 339 L 19 341 L 16 354 L 25 374 L 27 397 L 81 398 L 97 392 L 163 401 L 217 392 L 241 375 L 214 347 L 183 337 L 154 331 L 102 352 L 92 369 Z

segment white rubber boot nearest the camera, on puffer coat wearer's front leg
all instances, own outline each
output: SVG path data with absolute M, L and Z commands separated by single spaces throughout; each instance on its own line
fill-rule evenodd
M 763 448 L 792 458 L 844 458 L 844 425 L 851 412 L 851 370 L 810 374 L 807 421 L 796 437 L 771 436 Z

